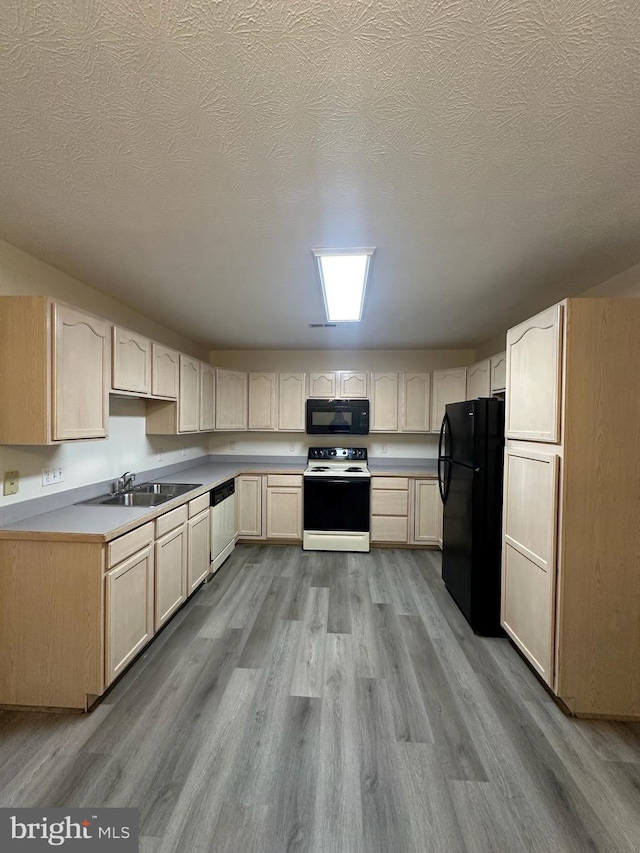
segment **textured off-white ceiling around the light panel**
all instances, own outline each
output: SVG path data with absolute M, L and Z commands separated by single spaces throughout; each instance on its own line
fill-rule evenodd
M 640 261 L 639 70 L 637 0 L 3 0 L 0 237 L 214 348 L 474 345 Z

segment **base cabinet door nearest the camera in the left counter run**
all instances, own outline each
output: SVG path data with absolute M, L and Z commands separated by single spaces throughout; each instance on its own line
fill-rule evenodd
M 153 637 L 153 546 L 105 575 L 106 684 Z

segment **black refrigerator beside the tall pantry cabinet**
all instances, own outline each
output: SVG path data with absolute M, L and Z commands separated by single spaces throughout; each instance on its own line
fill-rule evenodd
M 504 402 L 446 407 L 438 449 L 442 579 L 476 634 L 502 636 L 500 554 Z

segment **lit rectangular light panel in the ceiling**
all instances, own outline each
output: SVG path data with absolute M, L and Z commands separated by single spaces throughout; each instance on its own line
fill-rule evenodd
M 368 249 L 313 249 L 330 323 L 359 323 L 375 246 Z

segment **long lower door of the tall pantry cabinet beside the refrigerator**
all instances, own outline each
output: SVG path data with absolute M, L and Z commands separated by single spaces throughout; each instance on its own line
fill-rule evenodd
M 505 450 L 502 625 L 553 680 L 558 457 Z

